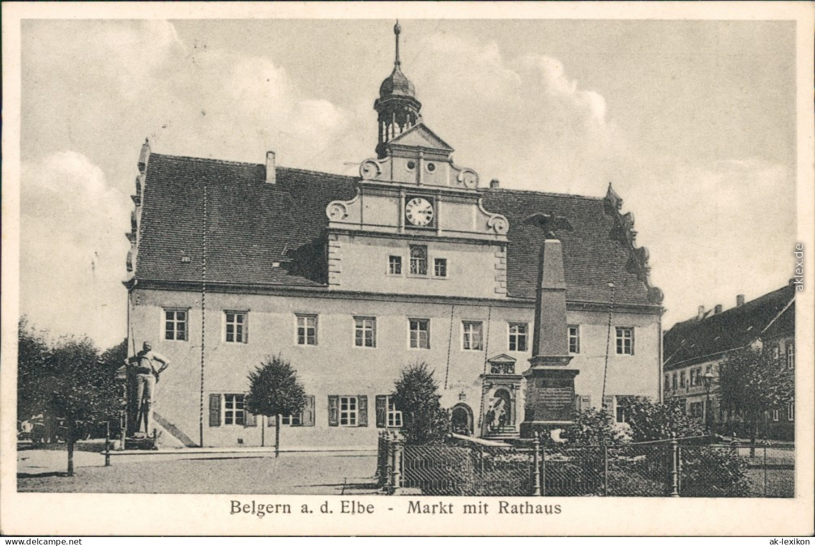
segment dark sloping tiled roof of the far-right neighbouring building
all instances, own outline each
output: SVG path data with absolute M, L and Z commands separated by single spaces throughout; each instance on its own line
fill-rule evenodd
M 794 332 L 795 303 L 787 307 L 794 297 L 795 287 L 787 285 L 717 315 L 675 324 L 664 335 L 665 369 L 747 346 L 758 337 Z

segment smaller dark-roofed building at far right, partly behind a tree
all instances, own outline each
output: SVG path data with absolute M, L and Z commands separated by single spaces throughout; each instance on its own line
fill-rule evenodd
M 740 416 L 720 408 L 719 364 L 728 354 L 743 347 L 763 347 L 772 351 L 779 366 L 795 368 L 795 286 L 788 284 L 736 306 L 712 311 L 699 307 L 694 319 L 675 324 L 665 332 L 663 392 L 665 399 L 685 400 L 685 411 L 704 422 L 710 419 L 721 432 L 747 434 Z M 704 376 L 714 376 L 710 402 Z M 795 403 L 764 416 L 764 434 L 768 438 L 791 439 L 795 436 Z

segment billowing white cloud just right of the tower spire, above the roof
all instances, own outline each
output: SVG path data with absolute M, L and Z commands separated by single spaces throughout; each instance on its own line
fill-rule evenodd
M 510 187 L 597 195 L 625 139 L 606 100 L 547 55 L 504 58 L 495 42 L 436 35 L 415 70 L 425 122 L 449 135 L 456 161 Z M 406 68 L 407 69 L 407 68 Z

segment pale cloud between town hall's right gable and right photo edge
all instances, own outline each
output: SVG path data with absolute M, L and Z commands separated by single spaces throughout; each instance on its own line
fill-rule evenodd
M 623 209 L 637 215 L 638 244 L 651 250 L 652 280 L 666 294 L 666 326 L 697 306 L 727 309 L 737 293 L 749 300 L 786 283 L 795 244 L 791 170 L 759 158 L 650 166 L 620 191 Z

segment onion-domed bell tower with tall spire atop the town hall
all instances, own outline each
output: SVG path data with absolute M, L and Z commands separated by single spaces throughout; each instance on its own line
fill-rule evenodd
M 399 21 L 394 25 L 396 37 L 396 59 L 394 71 L 382 81 L 379 86 L 379 99 L 374 101 L 373 108 L 379 114 L 379 143 L 377 143 L 377 156 L 385 157 L 385 144 L 403 134 L 421 121 L 419 110 L 421 103 L 416 100 L 416 89 L 410 80 L 402 73 L 402 63 L 399 61 L 399 34 L 402 27 Z

